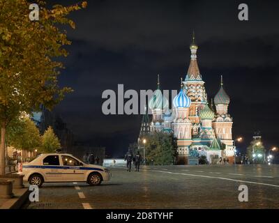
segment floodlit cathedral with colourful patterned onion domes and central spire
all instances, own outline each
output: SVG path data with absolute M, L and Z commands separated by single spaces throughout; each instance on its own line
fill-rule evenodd
M 158 78 L 158 88 L 148 103 L 152 120 L 149 122 L 146 110 L 139 139 L 149 132 L 173 133 L 177 139 L 176 164 L 197 164 L 195 160 L 202 155 L 209 164 L 216 164 L 220 157 L 233 163 L 229 95 L 224 90 L 221 77 L 218 93 L 214 100 L 208 102 L 204 80 L 197 64 L 197 49 L 193 36 L 188 72 L 184 81 L 181 79 L 181 89 L 172 100 L 172 109 L 169 109 L 169 102 L 160 89 Z

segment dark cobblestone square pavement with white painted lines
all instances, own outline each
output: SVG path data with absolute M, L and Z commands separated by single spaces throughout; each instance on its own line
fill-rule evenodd
M 154 166 L 112 168 L 112 180 L 45 183 L 40 201 L 24 208 L 279 208 L 279 166 Z M 239 202 L 239 185 L 248 202 Z

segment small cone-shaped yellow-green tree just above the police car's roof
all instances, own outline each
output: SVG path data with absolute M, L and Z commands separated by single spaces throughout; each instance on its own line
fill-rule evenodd
M 59 148 L 61 148 L 61 144 L 58 137 L 56 137 L 51 127 L 47 128 L 42 137 L 42 146 L 40 151 L 43 153 L 54 153 L 55 150 Z

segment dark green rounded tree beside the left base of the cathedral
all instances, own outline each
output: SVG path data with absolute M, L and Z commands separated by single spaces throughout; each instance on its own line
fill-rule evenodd
M 146 136 L 146 160 L 156 165 L 174 164 L 176 143 L 172 134 L 153 132 Z

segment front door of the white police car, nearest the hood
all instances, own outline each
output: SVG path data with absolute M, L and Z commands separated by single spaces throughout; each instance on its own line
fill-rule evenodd
M 63 178 L 66 181 L 84 181 L 84 170 L 81 162 L 70 155 L 61 155 L 63 164 Z

